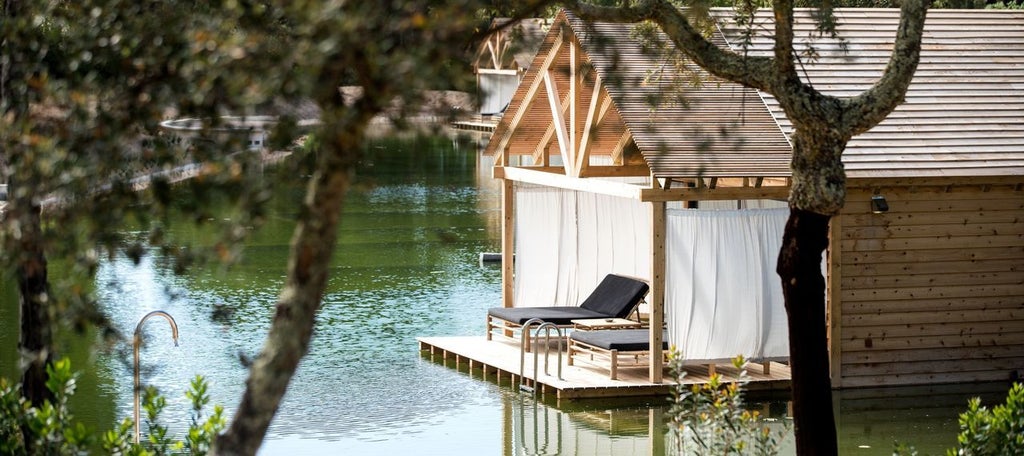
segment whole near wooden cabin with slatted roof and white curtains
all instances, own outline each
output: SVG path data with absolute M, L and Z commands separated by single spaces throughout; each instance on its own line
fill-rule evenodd
M 713 14 L 713 41 L 742 51 L 732 11 Z M 811 12 L 796 16 L 810 36 Z M 899 11 L 837 16 L 848 51 L 816 40 L 802 77 L 852 95 L 884 70 Z M 770 55 L 772 29 L 763 11 L 746 52 Z M 634 276 L 651 287 L 651 382 L 663 325 L 695 363 L 784 358 L 792 124 L 632 30 L 559 13 L 492 136 L 516 258 L 503 304 L 575 305 L 605 274 Z M 824 261 L 837 387 L 1024 373 L 1024 11 L 932 10 L 925 35 L 906 102 L 844 154 Z

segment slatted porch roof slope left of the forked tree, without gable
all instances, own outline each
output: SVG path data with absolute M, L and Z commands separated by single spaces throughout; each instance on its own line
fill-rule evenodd
M 685 75 L 658 78 L 674 69 L 665 68 L 664 52 L 632 38 L 633 25 L 565 15 L 655 176 L 790 175 L 790 142 L 756 90 L 693 65 L 687 71 L 699 78 L 695 85 L 687 86 Z M 714 41 L 725 46 L 721 35 Z

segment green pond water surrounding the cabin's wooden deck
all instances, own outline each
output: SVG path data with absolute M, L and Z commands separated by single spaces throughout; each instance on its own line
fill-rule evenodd
M 310 353 L 263 454 L 664 454 L 660 400 L 538 404 L 419 354 L 417 336 L 480 334 L 486 307 L 500 302 L 499 270 L 477 262 L 479 252 L 499 250 L 500 191 L 489 174 L 471 140 L 379 139 L 368 148 Z M 181 392 L 196 374 L 211 381 L 214 403 L 233 410 L 246 378 L 240 357 L 255 356 L 268 328 L 302 192 L 276 192 L 269 221 L 227 271 L 175 276 L 159 256 L 100 268 L 99 300 L 124 334 L 151 310 L 177 321 L 180 346 L 155 319 L 141 357 L 143 381 L 168 396 L 168 423 L 186 422 Z M 177 235 L 200 243 L 209 236 Z M 16 370 L 16 303 L 3 284 L 0 375 Z M 229 317 L 211 319 L 214 304 Z M 83 371 L 74 407 L 90 426 L 104 427 L 131 415 L 131 347 L 95 351 L 92 340 L 67 344 Z M 843 453 L 890 454 L 898 440 L 939 454 L 954 443 L 966 398 L 997 398 L 991 391 L 999 388 L 837 393 Z M 757 407 L 785 414 L 784 398 Z

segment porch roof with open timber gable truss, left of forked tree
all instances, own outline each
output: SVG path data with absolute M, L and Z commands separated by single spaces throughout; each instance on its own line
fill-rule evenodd
M 791 147 L 757 91 L 695 66 L 681 82 L 672 51 L 650 50 L 631 27 L 559 13 L 488 143 L 496 176 L 515 167 L 514 180 L 643 201 L 785 198 Z

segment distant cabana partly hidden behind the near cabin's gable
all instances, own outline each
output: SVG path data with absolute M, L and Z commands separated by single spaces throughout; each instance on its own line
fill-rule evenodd
M 529 18 L 501 28 L 508 22 L 493 22 L 498 31 L 480 44 L 473 61 L 481 115 L 500 115 L 508 107 L 551 26 L 548 19 Z

